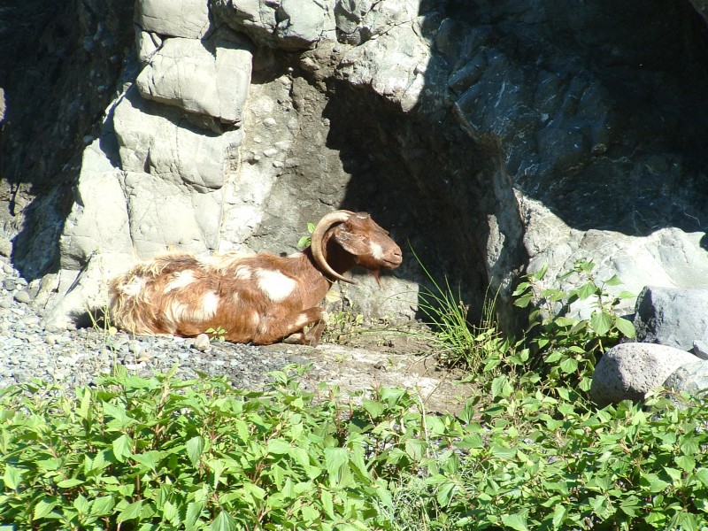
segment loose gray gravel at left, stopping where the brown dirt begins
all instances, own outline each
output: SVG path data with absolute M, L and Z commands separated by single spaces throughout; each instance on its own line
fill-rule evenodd
M 267 373 L 307 363 L 296 350 L 264 350 L 228 342 L 179 337 L 135 337 L 103 329 L 47 330 L 34 307 L 35 282 L 27 285 L 5 262 L 0 273 L 0 388 L 40 378 L 67 387 L 110 373 L 114 363 L 130 373 L 149 376 L 178 364 L 182 378 L 227 374 L 241 389 L 266 389 Z M 317 371 L 317 369 L 315 369 Z

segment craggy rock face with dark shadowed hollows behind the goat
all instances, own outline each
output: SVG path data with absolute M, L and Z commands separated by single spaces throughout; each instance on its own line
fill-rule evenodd
M 410 242 L 473 319 L 500 287 L 511 326 L 519 272 L 552 282 L 577 258 L 636 293 L 708 288 L 698 0 L 45 4 L 0 12 L 44 28 L 0 59 L 0 176 L 13 259 L 55 323 L 135 258 L 290 252 L 340 207 Z M 342 300 L 411 315 L 425 281 L 409 254 Z

